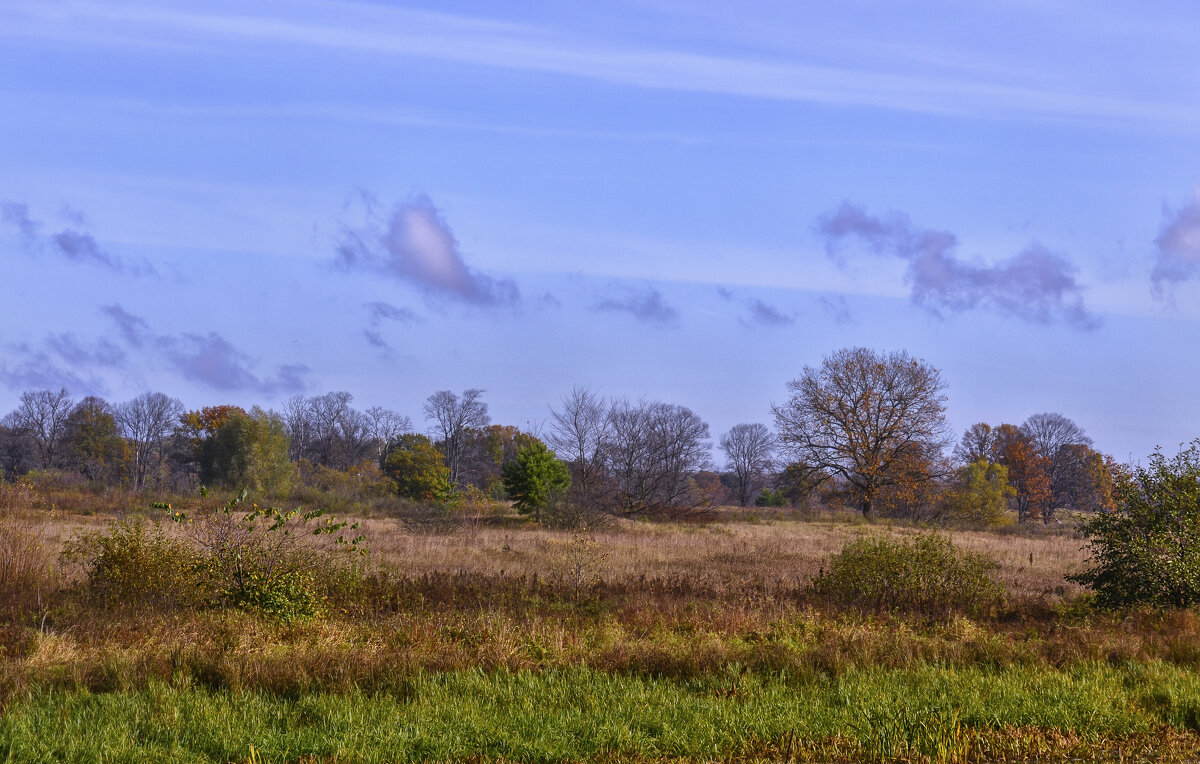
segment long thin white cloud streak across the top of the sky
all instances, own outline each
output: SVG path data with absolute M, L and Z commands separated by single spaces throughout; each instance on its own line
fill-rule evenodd
M 581 38 L 542 26 L 406 8 L 313 4 L 308 19 L 277 6 L 250 12 L 191 11 L 138 2 L 73 4 L 10 18 L 24 36 L 112 44 L 254 43 L 365 53 L 575 77 L 628 86 L 750 98 L 865 106 L 960 116 L 1128 119 L 1200 124 L 1183 98 L 1129 97 L 1096 85 L 1055 86 L 1036 74 L 997 68 L 890 66 L 856 58 L 815 62 L 773 55 L 714 55 L 686 49 Z M 64 23 L 62 19 L 67 23 Z M 970 60 L 970 58 L 968 58 Z M 890 61 L 894 64 L 894 61 Z M 1085 80 L 1086 82 L 1086 80 Z

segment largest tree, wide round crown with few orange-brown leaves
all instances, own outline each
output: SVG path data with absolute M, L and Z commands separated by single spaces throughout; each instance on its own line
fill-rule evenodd
M 772 407 L 784 445 L 814 468 L 845 479 L 864 517 L 881 489 L 928 481 L 928 457 L 946 445 L 946 384 L 907 353 L 846 348 L 787 383 Z

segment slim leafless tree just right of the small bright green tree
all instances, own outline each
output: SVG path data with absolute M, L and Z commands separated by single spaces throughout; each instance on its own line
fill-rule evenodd
M 612 429 L 604 398 L 588 387 L 574 387 L 560 408 L 551 409 L 551 419 L 546 440 L 571 470 L 571 493 L 582 504 L 598 504 Z

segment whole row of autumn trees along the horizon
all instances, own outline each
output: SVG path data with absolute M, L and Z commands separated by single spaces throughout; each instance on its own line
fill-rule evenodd
M 904 351 L 838 350 L 787 391 L 772 408 L 774 429 L 746 422 L 720 435 L 718 468 L 709 427 L 689 408 L 588 387 L 551 407 L 539 432 L 493 423 L 482 390 L 434 392 L 422 405 L 424 433 L 394 410 L 356 409 L 344 391 L 295 396 L 276 411 L 188 410 L 161 392 L 112 404 L 36 390 L 0 420 L 0 470 L 7 480 L 56 470 L 132 492 L 275 493 L 353 473 L 412 501 L 464 491 L 512 499 L 538 519 L 820 503 L 978 523 L 1111 509 L 1127 474 L 1056 413 L 980 422 L 955 444 L 940 372 Z

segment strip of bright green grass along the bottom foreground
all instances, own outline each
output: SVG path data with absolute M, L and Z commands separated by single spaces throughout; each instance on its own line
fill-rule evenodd
M 386 693 L 280 697 L 151 684 L 34 691 L 0 717 L 0 759 L 1006 759 L 1183 756 L 1200 676 L 1165 663 L 922 667 L 836 679 L 678 681 L 589 669 L 424 674 Z

